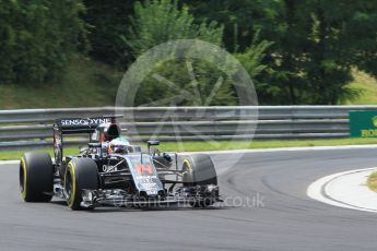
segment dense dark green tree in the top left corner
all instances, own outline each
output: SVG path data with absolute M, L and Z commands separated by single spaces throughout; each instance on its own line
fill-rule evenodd
M 56 80 L 84 37 L 80 0 L 1 0 L 0 83 Z

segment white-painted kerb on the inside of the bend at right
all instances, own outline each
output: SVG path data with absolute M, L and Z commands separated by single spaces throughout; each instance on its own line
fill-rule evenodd
M 308 187 L 307 195 L 333 206 L 377 213 L 377 193 L 366 186 L 374 170 L 376 167 L 326 176 Z

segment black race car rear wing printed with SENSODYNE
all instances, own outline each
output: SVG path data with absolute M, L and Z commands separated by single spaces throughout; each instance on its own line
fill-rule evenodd
M 57 119 L 54 124 L 54 154 L 55 162 L 60 165 L 62 162 L 62 143 L 64 134 L 93 133 L 102 123 L 116 123 L 116 119 L 122 116 L 110 115 L 94 118 L 62 118 Z

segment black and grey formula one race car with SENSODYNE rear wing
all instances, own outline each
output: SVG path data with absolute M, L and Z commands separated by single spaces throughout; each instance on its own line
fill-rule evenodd
M 23 200 L 49 202 L 57 196 L 71 210 L 177 203 L 207 207 L 221 201 L 210 156 L 160 153 L 151 148 L 157 141 L 148 141 L 148 151 L 142 151 L 120 135 L 116 117 L 59 119 L 54 125 L 54 162 L 45 153 L 21 158 Z M 63 135 L 78 133 L 90 133 L 87 147 L 63 157 Z

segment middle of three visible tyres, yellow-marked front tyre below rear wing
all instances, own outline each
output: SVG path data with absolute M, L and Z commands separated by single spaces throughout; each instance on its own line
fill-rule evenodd
M 73 158 L 68 163 L 64 175 L 64 190 L 69 208 L 85 210 L 81 206 L 83 189 L 98 189 L 97 165 L 91 158 Z

